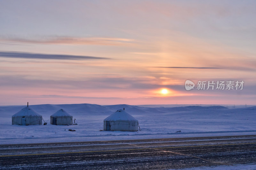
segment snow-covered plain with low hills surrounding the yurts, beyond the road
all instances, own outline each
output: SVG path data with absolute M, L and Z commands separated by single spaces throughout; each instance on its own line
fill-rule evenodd
M 240 108 L 235 109 L 231 109 L 230 105 L 228 108 L 224 106 L 30 105 L 47 122 L 47 125 L 30 126 L 12 125 L 12 115 L 25 106 L 0 106 L 0 143 L 45 143 L 256 134 L 256 106 L 243 108 L 241 105 Z M 103 129 L 103 120 L 116 110 L 123 108 L 139 120 L 141 131 L 100 131 L 100 129 Z M 64 109 L 71 114 L 78 125 L 50 125 L 50 116 L 59 109 Z M 75 129 L 76 131 L 71 132 L 68 129 Z

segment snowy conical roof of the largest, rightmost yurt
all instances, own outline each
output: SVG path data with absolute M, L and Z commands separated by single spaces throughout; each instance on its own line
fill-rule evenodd
M 117 110 L 115 113 L 111 114 L 106 119 L 104 119 L 104 121 L 117 121 L 117 120 L 138 121 L 123 109 Z

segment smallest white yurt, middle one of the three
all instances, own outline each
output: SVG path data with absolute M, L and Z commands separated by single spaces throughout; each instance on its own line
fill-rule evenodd
M 51 116 L 52 125 L 72 125 L 73 116 L 63 109 L 58 110 Z

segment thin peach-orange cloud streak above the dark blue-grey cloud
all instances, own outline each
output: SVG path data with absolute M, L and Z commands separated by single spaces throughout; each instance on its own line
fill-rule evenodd
M 132 43 L 134 40 L 116 37 L 46 36 L 30 38 L 18 36 L 0 36 L 0 42 L 62 45 L 127 45 L 127 43 Z

